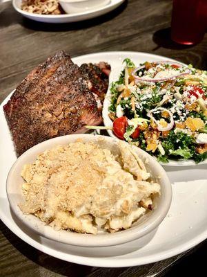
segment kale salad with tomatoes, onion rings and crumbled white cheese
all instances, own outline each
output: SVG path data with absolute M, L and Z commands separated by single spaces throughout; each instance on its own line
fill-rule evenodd
M 114 134 L 162 162 L 207 159 L 207 71 L 169 61 L 124 63 L 110 86 Z

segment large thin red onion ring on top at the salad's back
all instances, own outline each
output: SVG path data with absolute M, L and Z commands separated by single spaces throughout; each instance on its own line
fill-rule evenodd
M 179 67 L 183 66 L 182 64 L 179 64 L 178 62 L 170 62 L 170 61 L 161 61 L 161 62 L 152 62 L 152 63 L 154 63 L 154 64 L 170 64 L 170 65 L 175 64 Z M 135 78 L 136 83 L 140 82 L 140 81 L 142 81 L 142 82 L 164 82 L 166 80 L 175 79 L 182 75 L 187 75 L 190 73 L 190 69 L 188 69 L 186 67 L 186 72 L 181 72 L 181 73 L 178 73 L 177 75 L 173 75 L 168 78 L 157 78 L 157 79 L 156 78 L 153 78 L 153 79 L 148 78 L 148 79 L 146 79 L 143 76 L 139 77 L 139 76 L 135 75 L 135 73 L 137 73 L 137 71 L 139 71 L 140 69 L 144 69 L 144 68 L 145 68 L 145 65 L 142 65 L 142 66 L 137 67 L 134 71 L 132 71 L 132 76 Z

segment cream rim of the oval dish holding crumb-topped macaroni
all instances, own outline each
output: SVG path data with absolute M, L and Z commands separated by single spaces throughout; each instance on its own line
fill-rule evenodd
M 142 238 L 159 226 L 162 220 L 164 220 L 164 217 L 166 217 L 166 214 L 168 213 L 168 210 L 170 208 L 170 204 L 172 201 L 172 186 L 164 168 L 162 168 L 161 165 L 153 157 L 150 156 L 150 154 L 144 152 L 144 150 L 141 150 L 140 148 L 134 149 L 135 151 L 139 152 L 139 155 L 141 155 L 144 159 L 147 158 L 151 163 L 153 163 L 153 166 L 155 166 L 155 168 L 159 170 L 161 179 L 164 180 L 164 185 L 161 186 L 162 193 L 159 198 L 159 206 L 157 206 L 152 215 L 150 215 L 144 223 L 141 223 L 141 226 L 138 224 L 137 226 L 130 227 L 130 229 L 119 231 L 117 233 L 104 233 L 97 235 L 68 232 L 65 230 L 55 231 L 52 229 L 51 226 L 46 225 L 45 222 L 41 222 L 41 220 L 39 220 L 39 218 L 35 217 L 34 215 L 24 215 L 21 212 L 19 206 L 17 206 L 16 202 L 14 202 L 12 194 L 10 193 L 10 188 L 13 186 L 13 175 L 16 172 L 19 164 L 25 164 L 28 157 L 34 157 L 35 159 L 39 152 L 50 149 L 55 145 L 72 143 L 77 139 L 83 139 L 83 141 L 96 141 L 99 138 L 108 141 L 108 143 L 116 143 L 117 141 L 119 141 L 118 139 L 114 139 L 110 136 L 100 136 L 95 134 L 71 134 L 66 136 L 59 136 L 54 139 L 49 139 L 47 141 L 43 141 L 42 143 L 34 145 L 32 148 L 24 152 L 17 159 L 17 161 L 14 162 L 12 168 L 10 168 L 6 180 L 6 193 L 8 201 L 10 203 L 10 208 L 14 215 L 18 218 L 18 220 L 23 222 L 23 224 L 26 225 L 29 229 L 32 229 L 32 231 L 38 233 L 45 238 L 58 242 L 63 242 L 66 244 L 76 245 L 79 247 L 109 247 L 112 245 L 123 244 L 132 240 Z M 39 149 L 41 148 L 43 148 L 44 150 L 39 151 Z

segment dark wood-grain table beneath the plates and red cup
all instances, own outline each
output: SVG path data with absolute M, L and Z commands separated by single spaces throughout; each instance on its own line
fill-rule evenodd
M 72 56 L 100 51 L 143 51 L 191 63 L 200 69 L 207 67 L 207 35 L 200 44 L 193 47 L 179 46 L 170 41 L 172 2 L 169 0 L 129 0 L 117 10 L 97 19 L 60 25 L 24 19 L 15 12 L 10 2 L 3 3 L 2 6 L 0 102 L 34 66 L 60 49 L 65 49 Z M 2 277 L 164 276 L 177 261 L 187 255 L 194 255 L 196 251 L 206 251 L 206 243 L 168 260 L 141 267 L 86 267 L 63 262 L 37 251 L 17 238 L 0 221 Z

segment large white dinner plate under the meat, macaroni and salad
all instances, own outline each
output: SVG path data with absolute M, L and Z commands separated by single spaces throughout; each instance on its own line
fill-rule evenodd
M 83 62 L 106 61 L 113 69 L 117 64 L 121 64 L 124 57 L 130 57 L 137 63 L 164 59 L 147 53 L 108 52 L 83 55 L 72 60 L 79 65 Z M 61 260 L 95 267 L 130 267 L 156 262 L 186 251 L 207 238 L 206 165 L 166 167 L 168 177 L 173 183 L 172 204 L 168 215 L 150 238 L 150 242 L 140 245 L 139 241 L 135 240 L 117 247 L 109 247 L 107 256 L 110 257 L 104 256 L 101 251 L 99 253 L 99 249 L 89 252 L 87 247 L 68 247 L 66 244 L 53 242 L 19 224 L 10 211 L 6 196 L 6 177 L 12 163 L 17 159 L 2 109 L 10 96 L 0 106 L 0 218 L 19 238 Z M 119 247 L 126 248 L 125 255 L 117 256 Z

